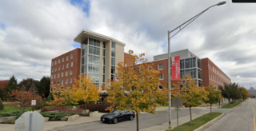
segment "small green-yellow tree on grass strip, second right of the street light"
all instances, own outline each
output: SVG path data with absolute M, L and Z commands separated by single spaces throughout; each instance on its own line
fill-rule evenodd
M 210 114 L 211 114 L 211 106 L 212 104 L 218 103 L 222 99 L 222 92 L 213 85 L 209 85 L 208 87 L 205 88 L 206 92 L 208 93 L 207 98 L 204 102 L 205 103 L 210 103 Z

